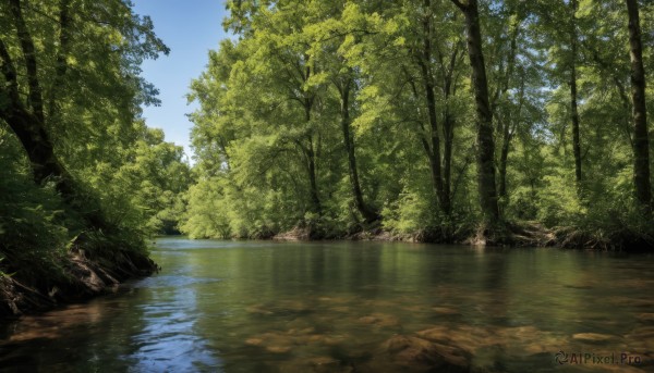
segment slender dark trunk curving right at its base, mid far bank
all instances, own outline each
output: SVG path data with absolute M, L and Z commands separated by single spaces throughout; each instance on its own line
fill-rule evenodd
M 366 206 L 361 191 L 359 182 L 359 170 L 356 169 L 356 157 L 354 154 L 354 140 L 350 134 L 350 87 L 351 79 L 347 79 L 339 88 L 341 96 L 341 128 L 343 132 L 343 145 L 348 153 L 348 171 L 350 173 L 350 185 L 352 186 L 352 195 L 356 203 L 356 210 L 361 213 L 366 223 L 373 223 L 380 219 L 379 214 Z

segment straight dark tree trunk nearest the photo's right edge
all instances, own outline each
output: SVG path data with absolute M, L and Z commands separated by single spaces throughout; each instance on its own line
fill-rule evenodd
M 631 54 L 631 99 L 633 101 L 633 182 L 635 198 L 643 209 L 652 212 L 650 184 L 650 140 L 645 105 L 645 70 L 641 41 L 640 15 L 637 0 L 627 0 L 629 13 L 629 47 Z

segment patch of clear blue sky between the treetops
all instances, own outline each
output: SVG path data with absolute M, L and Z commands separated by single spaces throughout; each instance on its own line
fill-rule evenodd
M 196 105 L 186 104 L 191 79 L 199 76 L 208 61 L 208 50 L 226 37 L 222 18 L 225 0 L 133 0 L 134 12 L 149 15 L 155 33 L 170 48 L 168 57 L 147 60 L 143 76 L 160 91 L 160 107 L 143 108 L 150 127 L 162 128 L 166 140 L 184 146 L 191 157 L 191 122 L 185 114 Z

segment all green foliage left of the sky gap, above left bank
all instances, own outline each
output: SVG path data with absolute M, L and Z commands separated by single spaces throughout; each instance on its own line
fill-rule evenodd
M 159 103 L 140 65 L 168 48 L 128 0 L 0 9 L 1 271 L 50 290 L 72 252 L 146 258 L 191 183 L 182 148 L 140 117 Z

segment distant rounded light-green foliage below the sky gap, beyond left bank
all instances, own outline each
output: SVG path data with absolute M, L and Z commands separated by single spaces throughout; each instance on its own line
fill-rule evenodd
M 116 165 L 101 159 L 77 170 L 97 190 L 116 225 L 144 234 L 173 234 L 183 212 L 181 194 L 191 183 L 191 172 L 179 146 L 164 141 L 160 129 L 137 122 L 140 137 L 114 159 Z

